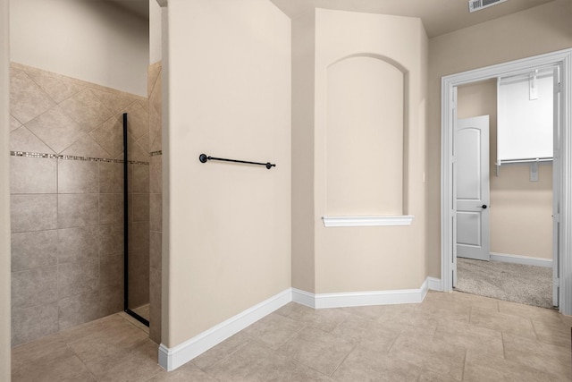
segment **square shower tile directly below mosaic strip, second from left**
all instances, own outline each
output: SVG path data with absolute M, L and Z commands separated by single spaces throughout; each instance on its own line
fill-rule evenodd
M 57 161 L 59 193 L 96 193 L 99 190 L 99 165 L 83 160 Z

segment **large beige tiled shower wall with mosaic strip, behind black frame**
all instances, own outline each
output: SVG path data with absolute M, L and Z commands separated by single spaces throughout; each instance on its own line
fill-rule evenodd
M 150 141 L 146 98 L 12 64 L 10 100 L 18 345 L 123 308 L 124 112 L 136 233 L 130 249 L 142 259 L 139 267 L 147 264 L 139 283 L 148 285 Z

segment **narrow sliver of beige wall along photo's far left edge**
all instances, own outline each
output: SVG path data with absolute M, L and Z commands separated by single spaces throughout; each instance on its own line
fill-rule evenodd
M 10 20 L 9 1 L 0 0 L 0 379 L 10 380 Z

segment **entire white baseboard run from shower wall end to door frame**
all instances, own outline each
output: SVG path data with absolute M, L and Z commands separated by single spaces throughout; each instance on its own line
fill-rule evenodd
M 425 299 L 429 289 L 442 290 L 441 280 L 427 277 L 418 289 L 355 293 L 315 294 L 296 288 L 288 288 L 282 293 L 278 293 L 268 300 L 262 301 L 248 310 L 244 310 L 182 344 L 172 348 L 161 344 L 159 346 L 159 365 L 167 371 L 177 369 L 214 345 L 222 343 L 231 335 L 235 335 L 240 330 L 254 324 L 260 318 L 264 318 L 274 310 L 280 309 L 290 301 L 314 309 L 416 303 Z

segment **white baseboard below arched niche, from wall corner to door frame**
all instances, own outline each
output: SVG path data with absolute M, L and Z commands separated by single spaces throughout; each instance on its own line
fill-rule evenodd
M 350 293 L 308 293 L 292 288 L 292 301 L 310 308 L 343 308 L 367 305 L 391 305 L 421 302 L 429 289 L 442 290 L 441 280 L 427 277 L 419 289 Z

